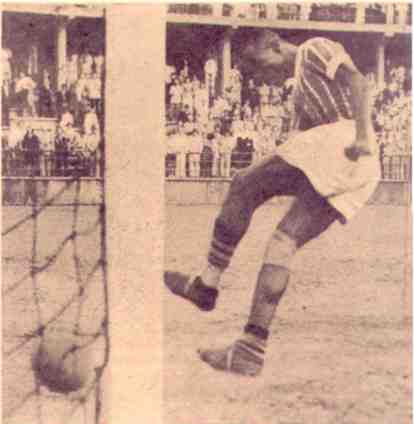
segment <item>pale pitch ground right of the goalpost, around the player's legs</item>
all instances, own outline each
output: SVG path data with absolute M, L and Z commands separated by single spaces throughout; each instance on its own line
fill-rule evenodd
M 265 243 L 284 207 L 254 216 L 217 309 L 164 296 L 165 424 L 411 423 L 408 209 L 369 206 L 297 255 L 257 379 L 210 369 L 199 347 L 240 334 Z M 165 268 L 204 265 L 213 206 L 167 207 Z

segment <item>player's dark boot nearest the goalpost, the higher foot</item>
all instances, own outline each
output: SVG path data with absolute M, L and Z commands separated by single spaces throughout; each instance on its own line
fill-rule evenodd
M 180 272 L 164 272 L 165 285 L 177 296 L 187 299 L 202 311 L 212 311 L 216 306 L 218 290 L 206 286 L 200 277 L 191 279 Z

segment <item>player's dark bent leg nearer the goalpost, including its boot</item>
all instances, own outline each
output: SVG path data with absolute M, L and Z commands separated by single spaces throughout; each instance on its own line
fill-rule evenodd
M 298 168 L 277 155 L 236 174 L 215 220 L 204 271 L 194 280 L 181 273 L 165 273 L 165 283 L 170 290 L 200 309 L 212 310 L 220 277 L 229 266 L 254 211 L 275 195 L 296 195 L 304 178 Z

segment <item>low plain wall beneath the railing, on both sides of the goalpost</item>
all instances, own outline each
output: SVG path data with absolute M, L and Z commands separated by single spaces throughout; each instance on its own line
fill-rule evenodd
M 82 178 L 79 190 L 76 180 L 65 178 L 19 178 L 3 177 L 3 205 L 28 205 L 35 201 L 51 205 L 84 205 L 102 202 L 102 180 Z M 167 179 L 165 200 L 173 205 L 220 204 L 230 185 L 229 179 Z M 273 199 L 277 204 L 281 199 Z M 411 204 L 411 184 L 407 181 L 381 181 L 370 200 L 371 204 Z

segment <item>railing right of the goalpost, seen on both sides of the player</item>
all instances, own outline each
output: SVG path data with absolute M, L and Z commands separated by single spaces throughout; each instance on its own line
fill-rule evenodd
M 167 179 L 231 178 L 238 170 L 250 166 L 263 155 L 257 152 L 233 152 L 202 155 L 168 154 L 165 159 Z M 381 178 L 385 181 L 411 181 L 411 155 L 384 155 L 380 158 Z

